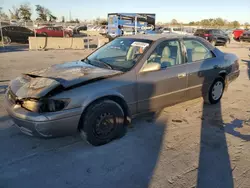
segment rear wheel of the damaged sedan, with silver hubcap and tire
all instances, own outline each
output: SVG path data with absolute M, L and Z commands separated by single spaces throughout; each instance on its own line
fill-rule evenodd
M 210 104 L 216 104 L 221 100 L 224 93 L 225 81 L 222 77 L 218 77 L 214 80 L 208 92 L 208 102 Z

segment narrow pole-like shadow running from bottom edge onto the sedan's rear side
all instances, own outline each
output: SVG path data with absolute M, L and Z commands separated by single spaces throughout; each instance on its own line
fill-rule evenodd
M 205 71 L 206 63 L 201 64 L 200 76 L 203 77 L 203 98 L 208 102 L 211 72 Z M 232 168 L 228 153 L 226 132 L 222 119 L 221 103 L 203 104 L 200 133 L 200 155 L 197 175 L 197 188 L 233 188 Z

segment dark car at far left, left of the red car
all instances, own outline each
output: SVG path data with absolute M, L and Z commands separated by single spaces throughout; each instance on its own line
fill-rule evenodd
M 10 44 L 11 42 L 27 43 L 29 37 L 34 36 L 34 32 L 32 30 L 21 26 L 14 26 L 14 25 L 4 26 L 2 27 L 2 31 L 3 31 L 3 41 L 5 44 Z

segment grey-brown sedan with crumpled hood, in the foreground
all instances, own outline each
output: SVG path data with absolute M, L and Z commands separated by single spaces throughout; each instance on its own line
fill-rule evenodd
M 238 57 L 200 37 L 123 36 L 82 60 L 22 74 L 4 106 L 28 135 L 79 131 L 102 145 L 122 137 L 138 114 L 202 96 L 218 103 L 239 73 Z

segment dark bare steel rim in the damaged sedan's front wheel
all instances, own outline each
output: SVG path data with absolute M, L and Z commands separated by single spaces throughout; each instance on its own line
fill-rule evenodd
M 100 138 L 110 135 L 115 129 L 115 116 L 110 113 L 101 114 L 96 120 L 95 134 Z

